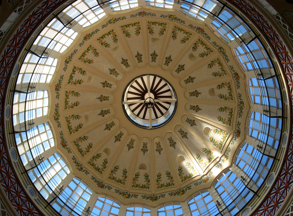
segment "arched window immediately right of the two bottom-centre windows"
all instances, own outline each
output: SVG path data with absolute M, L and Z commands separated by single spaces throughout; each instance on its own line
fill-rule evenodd
M 193 195 L 188 201 L 188 207 L 192 216 L 217 215 L 219 211 L 208 191 L 201 191 Z

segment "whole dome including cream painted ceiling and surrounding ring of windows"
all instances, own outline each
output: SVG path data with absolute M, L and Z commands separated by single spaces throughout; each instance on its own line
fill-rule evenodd
M 38 211 L 255 212 L 290 121 L 277 57 L 252 23 L 216 0 L 58 8 L 6 92 L 7 151 Z

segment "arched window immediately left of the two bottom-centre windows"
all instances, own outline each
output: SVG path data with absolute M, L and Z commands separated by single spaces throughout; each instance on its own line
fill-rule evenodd
M 112 198 L 99 195 L 96 204 L 93 207 L 91 216 L 117 216 L 120 204 Z

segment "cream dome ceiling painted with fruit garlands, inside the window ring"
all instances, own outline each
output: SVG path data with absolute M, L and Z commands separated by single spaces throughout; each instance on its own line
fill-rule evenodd
M 59 59 L 56 148 L 96 193 L 157 206 L 209 188 L 233 163 L 250 109 L 245 75 L 204 23 L 143 7 L 112 14 Z

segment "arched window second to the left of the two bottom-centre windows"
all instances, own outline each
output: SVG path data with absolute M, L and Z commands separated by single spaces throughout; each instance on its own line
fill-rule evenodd
M 79 178 L 73 178 L 61 195 L 59 195 L 59 199 L 74 212 L 81 215 L 92 193 L 93 191 L 86 183 L 84 183 L 84 181 Z M 61 213 L 61 215 L 72 213 L 72 211 L 69 212 L 68 208 L 63 208 L 65 204 L 63 204 L 63 206 L 60 204 L 60 202 L 55 202 L 52 206 L 55 210 Z

